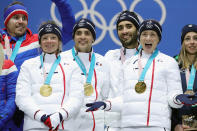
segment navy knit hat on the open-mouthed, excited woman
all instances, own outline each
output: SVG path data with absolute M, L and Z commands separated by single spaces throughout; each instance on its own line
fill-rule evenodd
M 159 36 L 159 40 L 161 40 L 162 27 L 158 21 L 152 20 L 152 19 L 143 21 L 140 25 L 140 28 L 139 28 L 139 37 L 140 37 L 141 33 L 145 30 L 155 31 L 157 33 L 157 35 Z

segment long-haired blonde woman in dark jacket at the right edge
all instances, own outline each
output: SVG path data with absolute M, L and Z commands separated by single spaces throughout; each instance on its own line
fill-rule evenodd
M 197 94 L 197 25 L 188 24 L 182 28 L 181 51 L 175 57 L 179 64 L 182 88 L 184 94 Z M 197 96 L 191 97 L 197 99 Z M 197 107 L 183 106 L 181 109 L 173 109 L 173 131 L 197 130 Z

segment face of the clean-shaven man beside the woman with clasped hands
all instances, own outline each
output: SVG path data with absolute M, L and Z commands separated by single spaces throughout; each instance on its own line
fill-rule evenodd
M 92 33 L 86 28 L 79 28 L 74 36 L 75 48 L 79 52 L 90 52 L 94 41 Z

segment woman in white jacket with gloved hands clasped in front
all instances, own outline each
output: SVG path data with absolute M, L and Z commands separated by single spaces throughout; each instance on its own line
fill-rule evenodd
M 25 114 L 24 130 L 74 131 L 72 121 L 83 104 L 78 66 L 61 59 L 60 28 L 47 21 L 39 28 L 42 54 L 26 60 L 18 76 L 16 104 Z

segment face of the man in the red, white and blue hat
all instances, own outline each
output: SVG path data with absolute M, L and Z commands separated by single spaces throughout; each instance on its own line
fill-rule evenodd
M 7 31 L 11 36 L 20 37 L 27 30 L 27 17 L 24 14 L 16 14 L 10 18 Z

